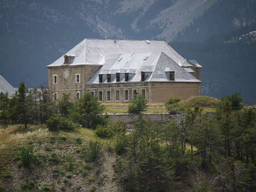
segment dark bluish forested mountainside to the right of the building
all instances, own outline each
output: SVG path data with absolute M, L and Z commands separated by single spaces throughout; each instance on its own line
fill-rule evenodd
M 218 1 L 170 45 L 203 65 L 204 95 L 221 98 L 241 92 L 246 104 L 255 103 L 256 2 Z

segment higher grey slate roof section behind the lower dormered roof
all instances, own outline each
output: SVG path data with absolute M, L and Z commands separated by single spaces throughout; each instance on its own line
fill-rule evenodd
M 107 55 L 122 53 L 156 53 L 164 52 L 180 66 L 186 62 L 165 41 L 134 41 L 134 40 L 97 40 L 88 39 L 81 41 L 65 55 L 75 56 L 72 65 L 105 65 Z M 64 55 L 47 67 L 61 66 L 64 63 Z

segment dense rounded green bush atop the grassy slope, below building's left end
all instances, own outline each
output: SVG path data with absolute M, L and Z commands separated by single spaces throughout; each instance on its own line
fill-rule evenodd
M 46 121 L 46 125 L 50 131 L 72 131 L 74 129 L 72 121 L 60 116 L 50 117 L 50 119 Z

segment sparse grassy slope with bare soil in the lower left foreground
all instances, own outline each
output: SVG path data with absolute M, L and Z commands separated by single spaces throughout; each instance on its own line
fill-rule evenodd
M 88 141 L 99 140 L 98 161 L 88 160 Z M 35 163 L 26 168 L 19 147 L 33 146 Z M 0 191 L 119 191 L 112 165 L 115 153 L 109 140 L 97 138 L 92 130 L 49 132 L 44 125 L 18 125 L 0 129 Z M 90 158 L 89 158 L 90 159 Z

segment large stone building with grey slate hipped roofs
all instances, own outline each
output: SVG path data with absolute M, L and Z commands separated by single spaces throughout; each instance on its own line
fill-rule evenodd
M 149 102 L 199 96 L 201 66 L 179 55 L 165 41 L 85 39 L 48 68 L 53 100 L 91 92 L 102 102 Z

